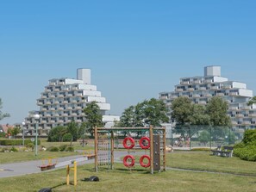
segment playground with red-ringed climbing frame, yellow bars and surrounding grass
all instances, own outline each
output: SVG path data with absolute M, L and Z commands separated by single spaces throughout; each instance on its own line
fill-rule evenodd
M 210 150 L 165 152 L 164 129 L 130 129 L 142 131 L 143 134 L 136 137 L 130 133 L 122 139 L 117 138 L 116 143 L 115 132 L 120 131 L 123 130 L 98 128 L 95 133 L 94 154 L 84 153 L 80 155 L 82 158 L 70 158 L 62 162 L 50 158 L 41 166 L 49 165 L 53 169 L 41 171 L 40 167 L 37 167 L 37 173 L 26 177 L 0 178 L 1 189 L 256 191 L 255 162 L 242 161 L 235 157 L 222 158 L 212 155 Z M 120 146 L 123 146 L 122 149 Z M 147 158 L 141 160 L 142 157 Z M 159 160 L 159 163 L 156 164 L 155 159 Z M 77 164 L 79 162 L 84 164 Z M 89 182 L 92 176 L 97 177 L 97 182 Z

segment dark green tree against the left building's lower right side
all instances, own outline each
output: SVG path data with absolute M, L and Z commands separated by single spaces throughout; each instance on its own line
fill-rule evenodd
M 84 108 L 84 115 L 86 118 L 87 131 L 93 136 L 94 127 L 103 127 L 103 115 L 97 102 L 91 102 Z

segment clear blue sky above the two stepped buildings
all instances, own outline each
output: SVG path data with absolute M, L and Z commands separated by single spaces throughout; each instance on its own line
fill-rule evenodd
M 0 98 L 22 122 L 39 109 L 48 80 L 76 77 L 90 68 L 92 84 L 111 104 L 109 114 L 159 92 L 179 77 L 203 76 L 221 65 L 222 76 L 256 93 L 256 1 L 0 2 Z

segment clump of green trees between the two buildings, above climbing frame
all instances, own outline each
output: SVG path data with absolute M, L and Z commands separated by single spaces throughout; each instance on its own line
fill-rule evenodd
M 145 125 L 160 127 L 161 123 L 169 121 L 166 112 L 165 103 L 152 98 L 126 108 L 119 125 L 121 127 L 144 127 Z

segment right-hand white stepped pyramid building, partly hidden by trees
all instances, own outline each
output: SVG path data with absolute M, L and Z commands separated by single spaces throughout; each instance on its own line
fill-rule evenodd
M 228 102 L 228 115 L 236 133 L 256 128 L 256 105 L 247 106 L 253 91 L 247 90 L 247 84 L 221 77 L 221 66 L 206 66 L 203 77 L 182 77 L 174 91 L 159 93 L 159 99 L 165 102 L 169 111 L 172 101 L 178 96 L 187 96 L 193 103 L 203 105 L 212 96 L 222 96 Z M 171 118 L 171 112 L 168 116 Z

